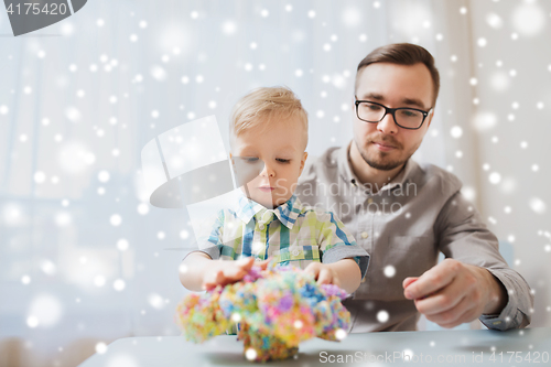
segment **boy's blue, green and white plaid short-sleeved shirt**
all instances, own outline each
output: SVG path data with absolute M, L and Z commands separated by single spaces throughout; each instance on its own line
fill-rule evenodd
M 240 195 L 234 209 L 225 208 L 198 235 L 199 250 L 213 259 L 236 260 L 269 256 L 302 269 L 312 261 L 324 263 L 354 258 L 364 278 L 369 255 L 332 213 L 302 205 L 292 195 L 274 209 L 267 209 Z

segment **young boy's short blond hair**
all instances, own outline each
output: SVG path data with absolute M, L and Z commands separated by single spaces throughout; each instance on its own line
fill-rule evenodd
M 245 95 L 234 106 L 229 119 L 229 141 L 247 130 L 262 130 L 279 120 L 299 117 L 303 125 L 304 149 L 307 144 L 309 120 L 301 100 L 288 87 L 262 87 Z

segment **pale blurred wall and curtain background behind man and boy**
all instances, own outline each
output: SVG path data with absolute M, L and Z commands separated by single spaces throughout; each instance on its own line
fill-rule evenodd
M 226 139 L 235 101 L 273 85 L 302 98 L 311 156 L 345 144 L 356 66 L 392 42 L 441 72 L 414 158 L 464 182 L 551 326 L 551 1 L 89 0 L 19 37 L 0 11 L 0 365 L 177 335 L 193 230 L 149 204 L 141 149 L 209 115 Z

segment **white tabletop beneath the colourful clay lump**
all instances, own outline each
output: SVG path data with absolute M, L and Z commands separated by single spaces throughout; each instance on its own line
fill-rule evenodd
M 256 365 L 241 353 L 242 343 L 228 335 L 198 345 L 179 336 L 130 337 L 111 343 L 105 354 L 95 354 L 80 367 Z M 408 356 L 410 363 L 404 361 Z M 338 363 L 339 357 L 348 361 Z M 551 328 L 350 334 L 341 343 L 318 338 L 305 342 L 295 359 L 269 363 L 269 366 L 318 365 L 551 366 Z

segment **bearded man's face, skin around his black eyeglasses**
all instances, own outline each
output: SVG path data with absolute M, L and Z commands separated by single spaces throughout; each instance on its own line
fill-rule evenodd
M 410 107 L 429 111 L 433 85 L 429 69 L 422 63 L 397 65 L 375 63 L 359 72 L 356 96 L 389 108 Z M 432 120 L 430 114 L 418 130 L 403 129 L 388 114 L 378 123 L 365 122 L 354 108 L 354 141 L 370 166 L 381 171 L 393 170 L 417 151 Z

